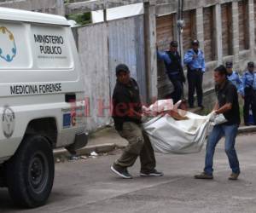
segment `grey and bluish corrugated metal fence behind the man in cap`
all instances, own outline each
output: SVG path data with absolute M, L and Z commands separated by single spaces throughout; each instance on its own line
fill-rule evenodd
M 139 83 L 146 100 L 143 15 L 112 20 L 75 29 L 84 72 L 84 93 L 90 101 L 87 130 L 111 120 L 111 95 L 116 82 L 115 66 L 125 63 Z

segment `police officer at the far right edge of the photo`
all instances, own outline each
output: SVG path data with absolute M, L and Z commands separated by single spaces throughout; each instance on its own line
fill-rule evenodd
M 255 101 L 255 88 L 253 89 L 253 81 L 255 78 L 254 63 L 250 61 L 247 63 L 247 71 L 244 72 L 241 81 L 244 88 L 244 106 L 243 118 L 244 124 L 249 125 L 249 111 L 253 111 L 253 121 L 256 121 L 256 101 Z

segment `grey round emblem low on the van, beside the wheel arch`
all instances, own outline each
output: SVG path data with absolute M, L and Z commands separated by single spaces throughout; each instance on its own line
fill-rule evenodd
M 15 130 L 15 112 L 8 106 L 3 108 L 2 129 L 6 138 L 11 137 Z

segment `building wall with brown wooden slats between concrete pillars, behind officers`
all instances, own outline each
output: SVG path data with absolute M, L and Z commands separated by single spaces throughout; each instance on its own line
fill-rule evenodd
M 182 55 L 190 48 L 192 39 L 200 41 L 207 62 L 205 94 L 212 93 L 214 67 L 231 60 L 236 70 L 243 72 L 247 61 L 255 60 L 255 9 L 255 0 L 184 1 Z M 176 23 L 176 4 L 157 6 L 156 39 L 160 49 L 168 49 L 170 41 L 177 39 Z M 160 62 L 158 67 L 159 94 L 165 95 L 172 85 L 166 80 Z

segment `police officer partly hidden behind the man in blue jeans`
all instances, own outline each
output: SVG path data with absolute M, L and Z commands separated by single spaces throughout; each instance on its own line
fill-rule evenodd
M 237 92 L 243 96 L 241 77 L 238 72 L 233 71 L 233 63 L 231 61 L 226 62 L 226 69 L 228 72 L 228 79 L 236 86 Z

